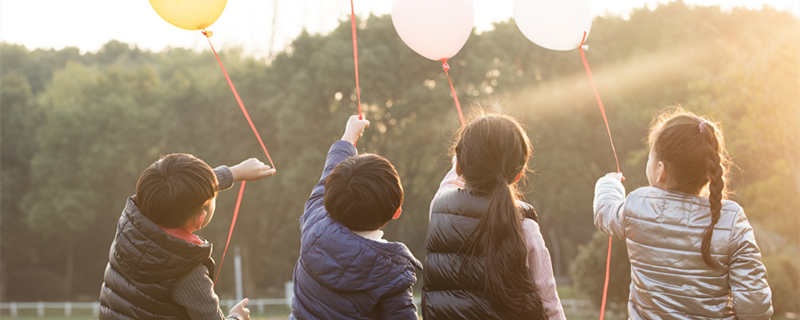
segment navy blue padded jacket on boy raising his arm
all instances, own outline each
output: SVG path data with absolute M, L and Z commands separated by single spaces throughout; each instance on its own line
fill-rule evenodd
M 325 210 L 324 181 L 333 168 L 355 156 L 338 141 L 328 151 L 322 178 L 300 217 L 300 258 L 294 268 L 295 319 L 417 319 L 412 287 L 422 268 L 399 242 L 361 237 Z

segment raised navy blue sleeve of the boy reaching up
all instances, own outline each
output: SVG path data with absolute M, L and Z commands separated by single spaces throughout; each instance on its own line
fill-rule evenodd
M 328 157 L 325 160 L 325 167 L 322 169 L 322 177 L 320 177 L 317 185 L 311 190 L 311 195 L 308 196 L 306 201 L 303 216 L 300 217 L 300 230 L 305 230 L 314 222 L 322 219 L 327 212 L 324 210 L 322 197 L 325 195 L 325 178 L 336 168 L 340 162 L 357 154 L 356 147 L 352 143 L 339 140 L 333 143 L 330 150 L 328 150 Z

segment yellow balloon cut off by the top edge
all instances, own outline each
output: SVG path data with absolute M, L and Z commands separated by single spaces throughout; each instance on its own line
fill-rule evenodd
M 228 0 L 150 0 L 161 18 L 178 28 L 202 30 L 222 15 Z

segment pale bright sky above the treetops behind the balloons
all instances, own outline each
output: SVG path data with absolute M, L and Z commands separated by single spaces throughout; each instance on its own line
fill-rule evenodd
M 274 10 L 277 2 L 277 11 Z M 668 0 L 594 0 L 595 15 L 625 16 L 633 8 L 653 8 Z M 800 0 L 685 0 L 692 5 L 769 5 L 800 16 Z M 474 0 L 478 31 L 512 16 L 513 0 Z M 387 14 L 391 0 L 356 0 L 356 14 Z M 265 57 L 291 43 L 304 28 L 325 33 L 349 14 L 349 0 L 228 0 L 227 7 L 209 30 L 218 49 L 242 47 L 247 54 Z M 277 12 L 277 16 L 274 15 Z M 275 37 L 273 18 L 276 20 Z M 109 40 L 140 48 L 162 50 L 207 45 L 199 32 L 173 27 L 162 20 L 147 0 L 0 0 L 0 41 L 28 48 L 67 46 L 95 51 Z

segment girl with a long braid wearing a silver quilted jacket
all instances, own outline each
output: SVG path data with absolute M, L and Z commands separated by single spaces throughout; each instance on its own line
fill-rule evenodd
M 594 224 L 625 238 L 631 319 L 769 319 L 772 293 L 744 210 L 725 198 L 722 131 L 683 110 L 650 129 L 649 187 L 595 186 Z M 705 190 L 707 189 L 707 190 Z

